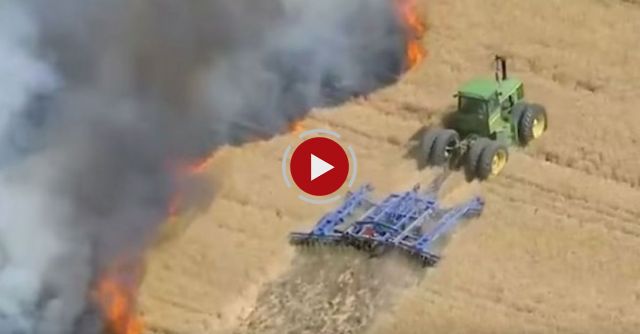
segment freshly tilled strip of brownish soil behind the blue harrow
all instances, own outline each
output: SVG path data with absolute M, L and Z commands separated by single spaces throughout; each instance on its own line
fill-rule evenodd
M 424 269 L 400 254 L 372 259 L 347 248 L 303 249 L 269 283 L 243 320 L 242 334 L 346 334 L 370 328 Z

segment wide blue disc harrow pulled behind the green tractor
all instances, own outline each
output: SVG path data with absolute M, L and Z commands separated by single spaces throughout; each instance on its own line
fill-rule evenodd
M 446 176 L 437 178 L 427 189 L 416 185 L 411 191 L 391 194 L 379 203 L 370 199 L 371 185 L 347 194 L 336 210 L 324 215 L 308 233 L 294 232 L 293 245 L 343 245 L 380 255 L 400 250 L 434 266 L 436 241 L 463 219 L 480 215 L 484 201 L 474 197 L 452 208 L 441 208 L 437 197 Z

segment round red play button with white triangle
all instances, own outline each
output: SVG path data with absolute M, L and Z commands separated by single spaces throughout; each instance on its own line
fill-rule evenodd
M 296 186 L 306 194 L 326 196 L 344 185 L 349 175 L 349 158 L 336 141 L 313 137 L 293 151 L 289 172 Z

